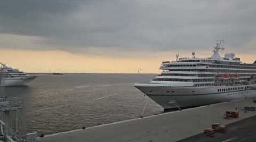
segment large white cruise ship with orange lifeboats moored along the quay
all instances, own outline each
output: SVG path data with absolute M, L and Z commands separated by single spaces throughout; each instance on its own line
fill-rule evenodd
M 164 61 L 163 70 L 149 83 L 134 86 L 167 110 L 203 106 L 256 97 L 256 61 L 245 64 L 234 53 L 219 55 L 223 40 L 209 58 L 179 58 Z

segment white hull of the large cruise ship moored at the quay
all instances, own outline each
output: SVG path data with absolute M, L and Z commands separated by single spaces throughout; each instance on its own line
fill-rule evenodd
M 256 97 L 255 85 L 171 87 L 135 84 L 135 87 L 141 90 L 164 109 L 203 106 L 213 103 Z M 229 89 L 234 87 L 243 87 L 243 89 L 241 88 L 239 90 L 218 92 L 218 89 Z

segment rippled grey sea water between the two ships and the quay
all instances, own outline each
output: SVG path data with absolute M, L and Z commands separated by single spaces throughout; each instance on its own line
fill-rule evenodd
M 139 118 L 163 108 L 135 89 L 155 74 L 41 74 L 28 86 L 2 87 L 0 95 L 24 100 L 20 127 L 26 133 L 55 133 Z

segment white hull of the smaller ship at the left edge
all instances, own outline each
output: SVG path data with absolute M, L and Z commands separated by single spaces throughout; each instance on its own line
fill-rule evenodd
M 0 80 L 0 86 L 23 86 L 28 82 L 35 80 L 35 76 L 5 78 Z

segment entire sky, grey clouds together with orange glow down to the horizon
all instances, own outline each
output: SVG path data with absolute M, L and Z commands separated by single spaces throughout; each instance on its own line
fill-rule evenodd
M 220 38 L 256 60 L 255 1 L 0 2 L 0 61 L 25 72 L 159 73 Z

